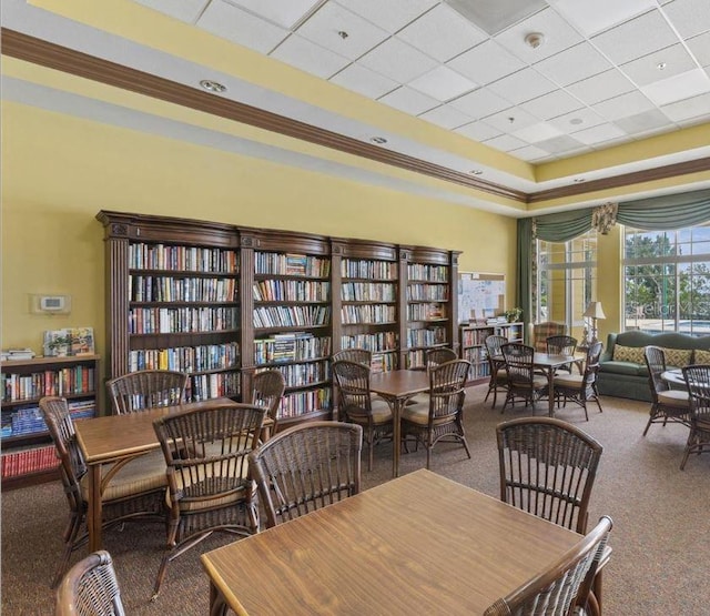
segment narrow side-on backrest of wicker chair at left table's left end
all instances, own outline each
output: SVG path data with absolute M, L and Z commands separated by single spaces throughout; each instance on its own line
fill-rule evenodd
M 74 513 L 82 513 L 84 501 L 80 482 L 88 468 L 77 442 L 77 432 L 67 398 L 47 396 L 40 400 L 39 406 L 60 461 L 60 476 L 69 508 Z

